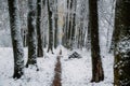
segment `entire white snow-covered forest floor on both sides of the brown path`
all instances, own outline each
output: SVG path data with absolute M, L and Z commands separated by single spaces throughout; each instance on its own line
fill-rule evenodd
M 25 75 L 21 80 L 13 80 L 13 53 L 10 47 L 0 47 L 0 86 L 51 86 L 54 80 L 54 68 L 56 57 L 62 48 L 62 86 L 113 86 L 113 55 L 106 54 L 103 58 L 105 80 L 101 83 L 91 81 L 91 54 L 86 49 L 74 49 L 82 58 L 68 59 L 70 52 L 63 46 L 54 49 L 54 55 L 47 53 L 44 57 L 38 58 L 38 68 L 25 69 Z M 25 60 L 27 60 L 27 48 L 25 48 Z M 26 61 L 25 61 L 26 62 Z

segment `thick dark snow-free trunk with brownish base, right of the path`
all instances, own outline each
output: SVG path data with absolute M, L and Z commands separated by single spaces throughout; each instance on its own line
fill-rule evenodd
M 100 82 L 104 80 L 102 68 L 100 44 L 99 44 L 99 20 L 98 20 L 98 0 L 89 0 L 89 18 L 91 28 L 91 56 L 92 56 L 92 81 Z

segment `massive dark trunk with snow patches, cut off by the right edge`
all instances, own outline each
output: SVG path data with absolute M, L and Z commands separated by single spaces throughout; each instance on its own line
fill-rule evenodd
M 130 0 L 117 0 L 115 12 L 114 85 L 130 85 Z

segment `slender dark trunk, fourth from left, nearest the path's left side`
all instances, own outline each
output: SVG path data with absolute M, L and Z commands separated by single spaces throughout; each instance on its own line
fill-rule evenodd
M 50 1 L 48 0 L 48 16 L 49 16 L 49 46 L 48 52 L 51 51 L 53 54 L 53 27 L 52 27 L 52 10 L 50 10 Z

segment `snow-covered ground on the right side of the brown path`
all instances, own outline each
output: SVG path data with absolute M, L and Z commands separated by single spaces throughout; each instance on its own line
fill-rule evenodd
M 62 58 L 62 83 L 63 86 L 113 86 L 113 56 L 106 55 L 103 60 L 105 80 L 101 83 L 90 83 L 92 76 L 91 53 L 75 49 L 82 58 L 68 60 L 70 52 L 63 53 Z

